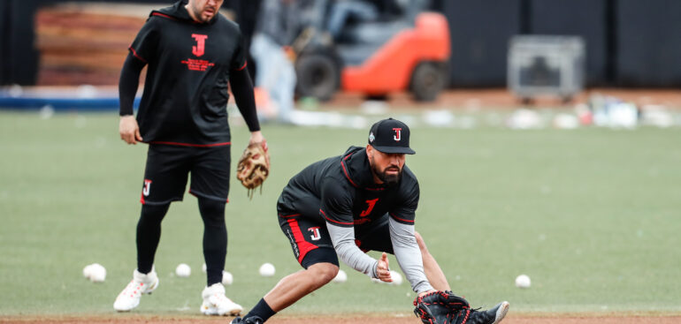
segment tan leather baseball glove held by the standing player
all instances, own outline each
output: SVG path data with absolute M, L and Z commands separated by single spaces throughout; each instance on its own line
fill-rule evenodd
M 253 198 L 254 189 L 263 185 L 269 173 L 270 155 L 267 153 L 266 144 L 249 144 L 243 150 L 236 167 L 236 178 L 248 189 L 249 198 Z M 260 191 L 263 191 L 262 186 L 260 186 Z

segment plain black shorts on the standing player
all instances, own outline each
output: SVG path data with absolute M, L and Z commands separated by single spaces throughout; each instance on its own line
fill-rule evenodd
M 187 175 L 189 193 L 210 200 L 227 201 L 230 146 L 180 147 L 149 145 L 142 184 L 142 204 L 165 205 L 182 200 Z

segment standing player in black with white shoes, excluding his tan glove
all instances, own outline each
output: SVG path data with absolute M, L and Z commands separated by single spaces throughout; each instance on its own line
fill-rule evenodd
M 239 26 L 218 14 L 223 0 L 183 0 L 151 11 L 130 46 L 120 73 L 120 138 L 149 144 L 142 215 L 137 223 L 137 268 L 133 280 L 113 304 L 119 312 L 139 305 L 142 294 L 156 290 L 153 267 L 161 221 L 172 201 L 189 193 L 198 199 L 203 219 L 203 255 L 207 286 L 201 312 L 238 314 L 241 305 L 225 296 L 230 130 L 227 82 L 250 131 L 249 144 L 266 151 L 256 116 L 253 86 Z M 134 95 L 142 67 L 148 65 L 137 117 Z

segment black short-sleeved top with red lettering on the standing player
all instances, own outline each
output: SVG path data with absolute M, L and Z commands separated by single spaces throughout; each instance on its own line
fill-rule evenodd
M 185 3 L 151 11 L 130 51 L 149 64 L 137 113 L 148 143 L 224 145 L 230 70 L 246 66 L 239 26 L 220 14 L 191 19 Z

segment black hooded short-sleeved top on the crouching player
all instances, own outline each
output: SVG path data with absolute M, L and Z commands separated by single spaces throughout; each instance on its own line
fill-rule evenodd
M 418 206 L 417 177 L 407 165 L 397 185 L 377 185 L 364 147 L 312 163 L 291 178 L 279 196 L 282 216 L 301 214 L 319 222 L 364 228 L 383 215 L 413 224 Z

